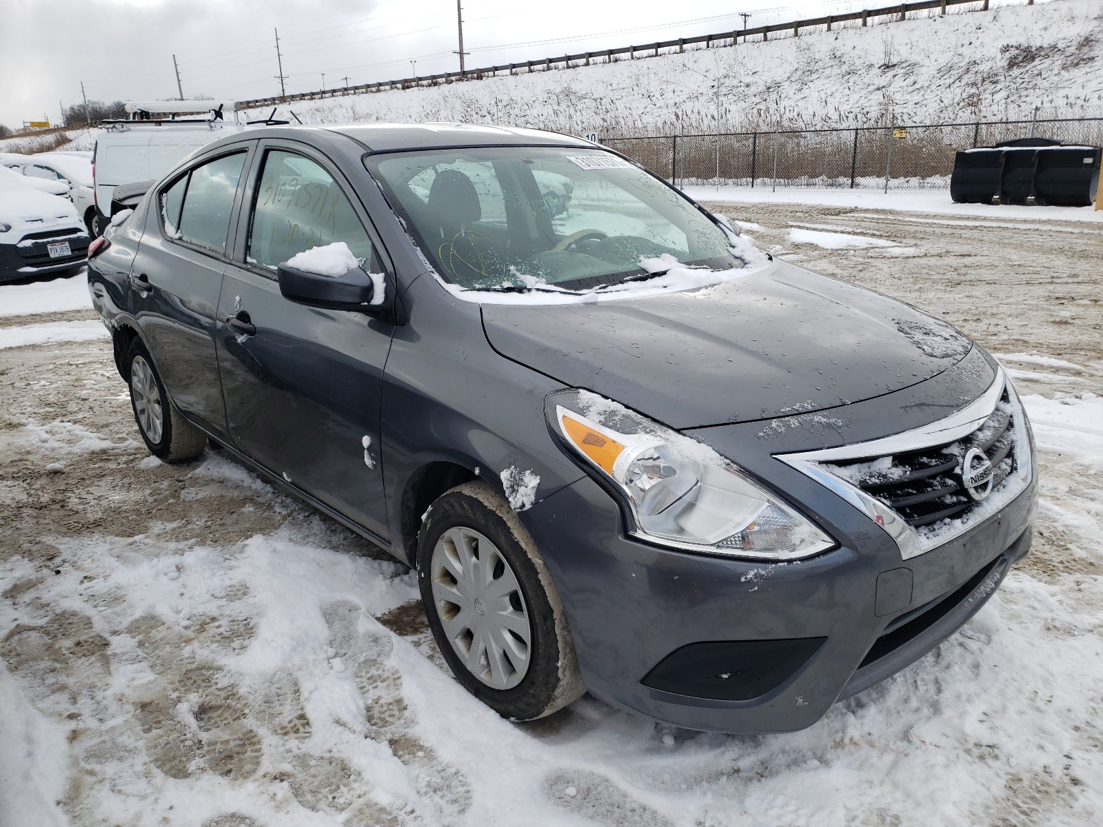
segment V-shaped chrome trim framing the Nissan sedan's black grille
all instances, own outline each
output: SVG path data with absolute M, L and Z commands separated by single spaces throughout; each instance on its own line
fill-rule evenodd
M 821 465 L 821 463 L 840 460 L 876 459 L 890 454 L 921 451 L 959 440 L 973 433 L 992 416 L 1005 391 L 1011 407 L 1014 471 L 993 491 L 987 500 L 971 508 L 963 518 L 955 520 L 954 525 L 949 528 L 923 530 L 925 529 L 923 527 L 923 529 L 917 530 L 908 524 L 899 512 Z M 856 442 L 821 451 L 774 455 L 834 492 L 877 523 L 899 546 L 900 556 L 904 560 L 918 557 L 932 548 L 938 548 L 987 519 L 1018 496 L 1030 483 L 1032 474 L 1026 411 L 1024 411 L 1022 404 L 1003 368 L 997 369 L 995 380 L 981 397 L 939 421 L 868 442 Z

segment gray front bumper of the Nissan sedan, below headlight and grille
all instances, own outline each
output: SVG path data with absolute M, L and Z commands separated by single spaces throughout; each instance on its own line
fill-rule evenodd
M 815 723 L 837 699 L 884 680 L 953 634 L 1029 549 L 1036 500 L 1032 479 L 989 519 L 907 561 L 868 518 L 845 511 L 836 534 L 850 541 L 788 565 L 650 546 L 624 535 L 617 504 L 589 477 L 522 516 L 559 588 L 591 694 L 687 729 L 764 733 Z M 823 640 L 758 697 L 694 697 L 643 683 L 692 644 L 808 638 Z M 738 673 L 738 666 L 718 666 L 717 674 Z

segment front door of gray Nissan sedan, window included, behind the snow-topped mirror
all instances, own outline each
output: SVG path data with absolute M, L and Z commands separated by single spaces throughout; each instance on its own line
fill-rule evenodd
M 385 543 L 379 411 L 394 326 L 285 299 L 276 266 L 344 241 L 373 272 L 392 268 L 347 180 L 321 153 L 263 141 L 255 167 L 238 260 L 226 269 L 218 303 L 231 437 L 254 461 Z

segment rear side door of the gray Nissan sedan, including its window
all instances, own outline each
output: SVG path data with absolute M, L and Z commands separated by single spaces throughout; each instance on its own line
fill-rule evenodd
M 226 433 L 226 410 L 214 322 L 249 152 L 250 144 L 224 148 L 154 193 L 129 277 L 131 312 L 169 396 L 218 436 Z

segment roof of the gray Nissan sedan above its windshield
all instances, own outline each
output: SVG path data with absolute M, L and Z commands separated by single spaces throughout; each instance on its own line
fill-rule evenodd
M 371 152 L 458 147 L 548 146 L 593 148 L 581 138 L 542 129 L 496 127 L 475 123 L 340 123 L 309 126 L 257 126 L 235 138 L 299 138 L 324 140 L 325 133 L 352 138 Z

